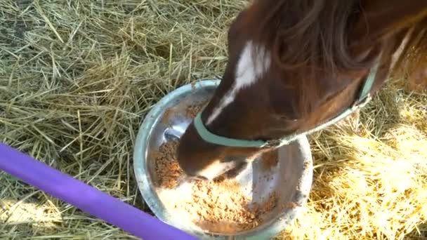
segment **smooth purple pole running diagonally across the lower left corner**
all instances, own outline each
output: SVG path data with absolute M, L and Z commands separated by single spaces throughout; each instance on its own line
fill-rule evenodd
M 144 240 L 197 239 L 2 143 L 0 169 Z

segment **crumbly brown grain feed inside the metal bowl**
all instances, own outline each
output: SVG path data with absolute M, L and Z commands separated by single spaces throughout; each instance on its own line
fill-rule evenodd
M 202 109 L 201 104 L 187 108 L 188 117 L 194 118 Z M 153 154 L 157 185 L 163 189 L 174 189 L 184 173 L 176 161 L 178 141 L 169 141 Z M 265 157 L 265 168 L 277 164 L 277 152 Z M 220 180 L 221 179 L 221 180 Z M 192 222 L 209 232 L 233 233 L 252 229 L 263 222 L 262 216 L 277 205 L 277 195 L 270 194 L 262 203 L 251 204 L 251 197 L 244 194 L 235 180 L 218 178 L 214 181 L 195 180 L 191 196 L 177 201 L 176 209 L 188 213 Z

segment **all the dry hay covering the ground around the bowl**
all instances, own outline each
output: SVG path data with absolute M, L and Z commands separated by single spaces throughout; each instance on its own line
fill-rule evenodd
M 140 121 L 168 91 L 223 72 L 245 4 L 0 1 L 1 141 L 149 211 L 132 169 Z M 313 192 L 279 238 L 426 236 L 427 95 L 400 89 L 390 81 L 361 114 L 310 136 Z M 132 238 L 0 173 L 0 239 L 34 237 Z

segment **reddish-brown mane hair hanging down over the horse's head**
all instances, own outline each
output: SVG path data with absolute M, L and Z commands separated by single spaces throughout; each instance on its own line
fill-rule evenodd
M 254 4 L 256 17 L 263 19 L 254 39 L 270 49 L 276 65 L 292 76 L 288 84 L 300 96 L 293 98 L 294 113 L 299 112 L 301 118 L 328 91 L 320 90 L 320 75 L 340 81 L 339 74 L 348 76 L 372 67 L 380 53 L 381 41 L 367 44 L 371 49 L 360 47 L 364 40 L 371 41 L 364 36 L 357 36 L 358 46 L 350 45 L 357 21 L 364 18 L 360 0 L 262 0 Z

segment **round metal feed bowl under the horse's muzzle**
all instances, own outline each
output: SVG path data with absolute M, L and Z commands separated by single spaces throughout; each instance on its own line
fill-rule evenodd
M 136 138 L 133 155 L 138 187 L 146 204 L 159 220 L 199 238 L 269 239 L 282 232 L 289 222 L 296 218 L 301 206 L 306 204 L 313 178 L 313 161 L 306 137 L 281 147 L 276 166 L 269 170 L 262 168 L 261 162 L 256 159 L 237 176 L 239 187 L 252 197 L 252 203 L 260 202 L 273 191 L 278 197 L 275 208 L 262 216 L 263 223 L 244 232 L 209 232 L 202 229 L 169 206 L 171 199 L 188 191 L 188 188 L 169 190 L 169 194 L 165 194 L 153 183 L 156 176 L 150 153 L 159 149 L 167 140 L 180 138 L 192 121 L 185 114 L 186 107 L 194 105 L 195 102 L 209 100 L 218 84 L 218 80 L 205 80 L 177 88 L 160 100 L 145 116 Z M 172 114 L 170 109 L 173 109 Z M 165 113 L 168 115 L 168 121 L 164 121 Z

